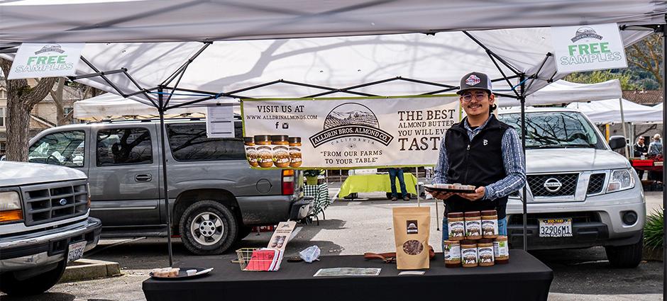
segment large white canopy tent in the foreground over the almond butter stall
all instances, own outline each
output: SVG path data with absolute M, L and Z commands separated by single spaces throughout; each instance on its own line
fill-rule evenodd
M 21 42 L 95 43 L 84 49 L 85 64 L 74 79 L 150 103 L 161 119 L 165 110 L 197 101 L 288 97 L 275 88 L 283 84 L 307 90 L 297 96 L 376 95 L 365 92 L 368 86 L 389 81 L 382 95 L 455 91 L 471 70 L 502 83 L 497 92 L 524 99 L 566 76 L 556 72 L 546 26 L 656 25 L 667 13 L 665 1 L 650 0 L 118 1 L 2 3 L 0 52 L 13 52 Z M 625 29 L 625 45 L 652 33 Z M 400 35 L 380 36 L 386 34 Z M 339 36 L 349 38 L 312 38 Z M 258 40 L 277 38 L 307 39 Z M 262 94 L 260 86 L 270 90 Z M 164 94 L 172 92 L 187 95 Z M 162 183 L 168 183 L 162 160 Z M 162 189 L 169 208 L 167 186 Z M 524 221 L 525 212 L 524 202 Z

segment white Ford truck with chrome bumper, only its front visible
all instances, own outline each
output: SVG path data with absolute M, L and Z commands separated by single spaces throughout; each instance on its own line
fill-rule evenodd
M 101 222 L 89 212 L 82 171 L 0 161 L 0 290 L 36 295 L 55 285 L 99 241 Z

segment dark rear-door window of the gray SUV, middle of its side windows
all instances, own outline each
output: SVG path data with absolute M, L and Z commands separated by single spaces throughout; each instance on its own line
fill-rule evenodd
M 143 127 L 97 132 L 97 166 L 153 163 L 150 131 Z

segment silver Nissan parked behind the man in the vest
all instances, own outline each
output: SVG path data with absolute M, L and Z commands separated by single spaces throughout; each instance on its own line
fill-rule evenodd
M 518 110 L 498 117 L 520 132 Z M 528 109 L 526 137 L 529 249 L 605 246 L 612 266 L 637 266 L 646 206 L 636 172 L 612 151 L 625 147 L 624 138 L 607 144 L 585 115 L 565 108 Z M 518 195 L 511 196 L 512 247 L 523 243 L 522 212 Z

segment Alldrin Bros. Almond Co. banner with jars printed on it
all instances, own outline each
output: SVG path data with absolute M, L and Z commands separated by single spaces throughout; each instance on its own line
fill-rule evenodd
M 241 115 L 243 135 L 255 143 L 246 149 L 258 157 L 249 164 L 292 169 L 432 165 L 461 118 L 456 95 L 244 99 Z

